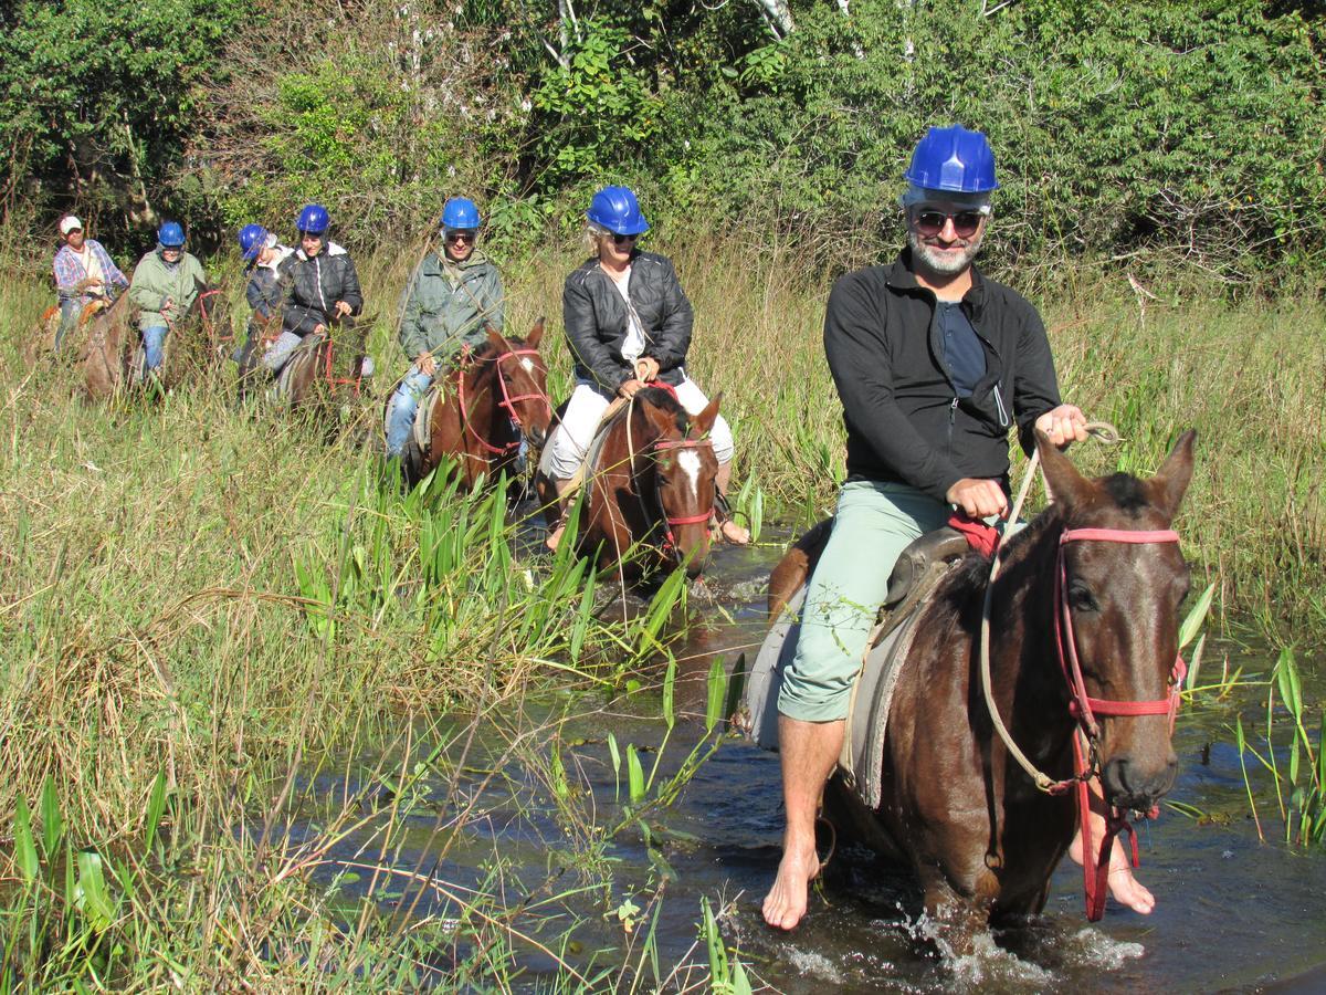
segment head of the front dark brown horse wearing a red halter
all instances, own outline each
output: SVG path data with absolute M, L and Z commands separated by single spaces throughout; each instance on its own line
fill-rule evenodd
M 1037 432 L 1063 521 L 1055 605 L 1061 654 L 1070 685 L 1081 674 L 1070 694 L 1078 712 L 1087 712 L 1085 724 L 1099 730 L 1101 781 L 1119 809 L 1154 808 L 1177 771 L 1170 734 L 1188 565 L 1171 523 L 1192 479 L 1195 438 L 1184 432 L 1150 479 L 1087 480 Z

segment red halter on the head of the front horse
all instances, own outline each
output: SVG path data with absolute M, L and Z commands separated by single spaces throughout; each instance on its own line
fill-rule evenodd
M 1067 566 L 1065 565 L 1063 547 L 1069 543 L 1098 541 L 1098 543 L 1177 543 L 1179 533 L 1174 529 L 1118 529 L 1118 528 L 1070 528 L 1059 536 L 1059 552 L 1054 569 L 1054 635 L 1059 647 L 1059 667 L 1063 670 L 1063 679 L 1067 681 L 1069 693 L 1073 695 L 1069 702 L 1069 711 L 1077 719 L 1082 735 L 1073 736 L 1073 767 L 1074 776 L 1069 780 L 1058 781 L 1054 787 L 1057 793 L 1062 793 L 1070 784 L 1077 785 L 1078 816 L 1082 825 L 1082 886 L 1086 892 L 1086 917 L 1097 922 L 1105 914 L 1105 898 L 1110 877 L 1110 852 L 1114 848 L 1114 837 L 1120 832 L 1127 833 L 1132 849 L 1132 866 L 1139 866 L 1138 834 L 1128 823 L 1126 813 L 1116 808 L 1110 808 L 1106 817 L 1105 838 L 1101 841 L 1101 850 L 1091 866 L 1091 824 L 1090 824 L 1090 792 L 1087 781 L 1097 771 L 1095 740 L 1101 728 L 1095 722 L 1097 715 L 1168 715 L 1170 731 L 1174 732 L 1174 720 L 1179 714 L 1179 694 L 1183 687 L 1183 678 L 1188 673 L 1188 666 L 1183 657 L 1175 657 L 1174 667 L 1170 671 L 1170 694 L 1150 702 L 1120 702 L 1109 698 L 1093 698 L 1086 693 L 1086 682 L 1082 679 L 1082 666 L 1077 655 L 1077 637 L 1073 631 L 1073 613 L 1067 598 Z M 1083 738 L 1091 747 L 1090 760 L 1083 756 Z M 1151 819 L 1158 815 L 1156 809 L 1147 813 Z

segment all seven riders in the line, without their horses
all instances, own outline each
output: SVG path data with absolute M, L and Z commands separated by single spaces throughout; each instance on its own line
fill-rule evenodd
M 973 519 L 1006 512 L 1010 429 L 1024 447 L 1034 444 L 1034 429 L 1059 447 L 1086 438 L 1081 410 L 1059 399 L 1040 314 L 973 265 L 998 188 L 985 135 L 960 125 L 930 129 L 904 182 L 906 245 L 892 263 L 842 276 L 825 318 L 825 353 L 847 434 L 847 480 L 808 586 L 778 699 L 786 829 L 764 915 L 781 929 L 805 914 L 808 886 L 819 870 L 815 811 L 842 748 L 853 681 L 894 563 L 955 508 Z M 476 244 L 480 223 L 471 200 L 448 200 L 442 252 L 424 257 L 403 292 L 399 340 L 411 365 L 389 407 L 391 456 L 400 455 L 420 398 L 440 371 L 481 344 L 489 329 L 501 330 L 503 284 Z M 297 249 L 259 226 L 240 232 L 255 316 L 267 322 L 281 310 L 280 334 L 263 337 L 252 326 L 236 354 L 241 366 L 274 371 L 304 337 L 363 305 L 349 255 L 325 240 L 328 212 L 310 204 L 297 227 Z M 663 383 L 691 414 L 708 403 L 686 371 L 693 313 L 676 271 L 636 244 L 648 230 L 626 187 L 598 191 L 586 211 L 590 255 L 566 277 L 562 295 L 575 387 L 542 462 L 560 495 L 615 398 Z M 77 219 L 66 218 L 61 232 L 66 244 L 56 257 L 56 277 L 62 305 L 126 284 L 105 251 L 84 239 Z M 158 241 L 129 284 L 149 366 L 154 357 L 159 362 L 164 320 L 187 309 L 196 293 L 188 277 L 199 268 L 182 251 L 178 224 L 162 226 Z M 721 494 L 733 452 L 723 418 L 711 438 Z M 748 540 L 733 521 L 721 528 L 729 541 Z M 556 548 L 560 536 L 554 529 L 549 545 Z M 1083 857 L 1081 842 L 1074 856 Z M 1111 854 L 1110 874 L 1118 899 L 1150 911 L 1154 899 L 1128 870 L 1122 845 Z

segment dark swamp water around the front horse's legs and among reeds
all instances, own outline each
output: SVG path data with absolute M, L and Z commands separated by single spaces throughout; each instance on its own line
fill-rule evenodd
M 842 848 L 826 885 L 812 894 L 806 921 L 790 935 L 766 929 L 760 901 L 780 853 L 778 760 L 741 740 L 721 743 L 671 805 L 638 805 L 639 820 L 623 819 L 627 744 L 635 744 L 646 777 L 659 760 L 644 792 L 654 797 L 707 738 L 712 658 L 720 654 L 729 669 L 741 653 L 753 659 L 765 625 L 764 582 L 777 555 L 773 547 L 716 551 L 708 573 L 713 600 L 692 596 L 691 631 L 672 647 L 676 722 L 666 743 L 662 669 L 642 675 L 646 686 L 631 694 L 500 700 L 473 724 L 468 751 L 468 716 L 418 724 L 408 751 L 342 760 L 305 785 L 306 797 L 357 796 L 369 799 L 361 808 L 392 811 L 389 834 L 366 820 L 326 852 L 316 880 L 339 881 L 349 915 L 371 893 L 385 915 L 407 925 L 431 919 L 443 935 L 463 933 L 475 910 L 509 923 L 520 934 L 507 934 L 520 971 L 511 984 L 526 991 L 556 988 L 558 970 L 569 990 L 633 990 L 631 972 L 622 980 L 613 971 L 622 964 L 639 968 L 636 991 L 700 984 L 708 968 L 701 898 L 757 991 L 1326 984 L 1326 852 L 1285 846 L 1273 793 L 1265 791 L 1257 800 L 1268 842 L 1258 841 L 1233 746 L 1236 715 L 1249 730 L 1264 728 L 1264 685 L 1184 704 L 1175 732 L 1180 772 L 1168 800 L 1201 815 L 1163 807 L 1158 821 L 1138 827 L 1139 877 L 1155 892 L 1156 910 L 1143 917 L 1111 902 L 1105 919 L 1089 925 L 1081 869 L 1065 860 L 1045 914 L 1010 938 L 1016 953 L 993 942 L 965 958 L 926 953 L 918 939 L 928 923 L 907 874 Z M 1204 655 L 1201 683 L 1213 681 L 1227 658 L 1231 673 L 1244 667 L 1245 679 L 1264 679 L 1274 663 L 1269 650 L 1233 643 L 1208 645 Z M 1309 702 L 1326 696 L 1321 663 L 1302 659 Z M 1249 732 L 1249 742 L 1264 746 L 1258 732 Z M 430 752 L 450 760 L 423 762 Z M 1249 756 L 1248 764 L 1252 769 L 1256 760 Z M 398 795 L 399 781 L 383 771 L 400 769 L 415 777 Z M 456 830 L 456 813 L 467 805 Z M 289 842 L 321 829 L 313 817 L 297 821 Z M 419 888 L 419 880 L 430 884 Z M 423 966 L 426 982 L 448 986 L 453 964 L 472 947 L 453 946 Z

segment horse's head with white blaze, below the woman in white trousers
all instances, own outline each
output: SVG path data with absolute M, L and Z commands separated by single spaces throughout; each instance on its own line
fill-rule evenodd
M 709 555 L 709 516 L 719 472 L 709 431 L 719 417 L 721 394 L 693 419 L 675 398 L 660 390 L 636 394 L 636 398 L 640 397 L 651 399 L 639 407 L 658 430 L 650 446 L 650 458 L 659 515 L 666 527 L 664 551 L 695 577 Z

